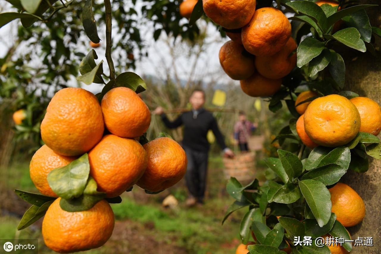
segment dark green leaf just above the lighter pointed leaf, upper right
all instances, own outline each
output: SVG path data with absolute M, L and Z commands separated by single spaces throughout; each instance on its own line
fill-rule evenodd
M 365 10 L 356 11 L 348 16 L 345 16 L 343 20 L 349 27 L 355 27 L 361 34 L 361 39 L 365 42 L 370 42 L 372 37 L 372 27 L 369 23 L 369 18 Z

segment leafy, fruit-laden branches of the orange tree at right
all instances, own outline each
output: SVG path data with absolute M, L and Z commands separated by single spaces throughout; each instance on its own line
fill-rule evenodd
M 240 8 L 241 3 L 253 2 L 254 13 Z M 243 57 L 255 61 L 256 73 L 241 80 L 243 92 L 269 96 L 273 112 L 286 104 L 295 117 L 273 140 L 281 149 L 278 158 L 265 159 L 271 170 L 265 183 L 260 185 L 255 179 L 243 186 L 235 178 L 227 183 L 226 190 L 235 202 L 227 209 L 223 223 L 232 212 L 248 208 L 239 229 L 247 250 L 237 249 L 237 253 L 352 251 L 346 227 L 363 220 L 363 198 L 368 197 L 360 197 L 350 186 L 338 182 L 348 170 L 367 172 L 369 156 L 381 159 L 380 140 L 375 136 L 381 128 L 380 106 L 344 89 L 346 65 L 338 52 L 349 47 L 378 54 L 373 43 L 381 37 L 381 30 L 371 26 L 365 11 L 376 6 L 345 0 L 257 0 L 237 5 L 203 0 L 195 6 L 191 23 L 205 11 L 229 33 L 231 47 L 241 48 L 238 55 L 229 51 L 229 60 L 236 62 L 233 67 L 242 64 Z M 289 14 L 291 26 L 280 10 Z M 247 16 L 252 17 L 250 22 Z M 295 51 L 287 46 L 290 37 L 298 44 Z M 282 56 L 285 51 L 288 53 Z M 226 59 L 220 60 L 230 77 L 242 72 L 227 69 Z M 282 86 L 272 85 L 275 82 L 282 82 Z M 251 237 L 255 244 L 248 245 Z M 342 241 L 339 244 L 335 242 L 338 239 Z

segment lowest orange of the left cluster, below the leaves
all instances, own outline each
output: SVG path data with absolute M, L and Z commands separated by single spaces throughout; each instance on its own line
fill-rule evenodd
M 102 246 L 114 230 L 114 212 L 106 200 L 86 211 L 67 212 L 57 198 L 42 221 L 42 236 L 46 246 L 56 252 L 71 253 Z

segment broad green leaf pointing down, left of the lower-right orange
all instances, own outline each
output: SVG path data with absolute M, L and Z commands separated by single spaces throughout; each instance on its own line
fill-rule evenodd
M 322 182 L 310 179 L 299 181 L 299 187 L 319 226 L 323 227 L 331 217 L 330 192 Z

